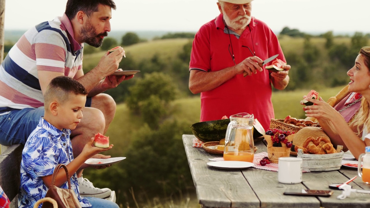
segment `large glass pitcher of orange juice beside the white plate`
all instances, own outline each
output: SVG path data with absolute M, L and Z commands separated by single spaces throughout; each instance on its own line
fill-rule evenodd
M 226 130 L 224 160 L 253 162 L 253 114 L 238 113 L 230 116 Z

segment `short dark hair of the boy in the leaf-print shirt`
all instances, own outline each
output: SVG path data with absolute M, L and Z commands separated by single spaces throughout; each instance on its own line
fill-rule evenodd
M 54 98 L 57 98 L 59 103 L 63 103 L 68 100 L 71 93 L 75 95 L 87 95 L 84 85 L 77 80 L 67 76 L 55 77 L 46 88 L 44 106 L 48 106 Z

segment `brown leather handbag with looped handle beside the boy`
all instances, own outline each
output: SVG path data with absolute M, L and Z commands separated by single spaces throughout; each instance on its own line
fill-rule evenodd
M 56 187 L 55 178 L 60 167 L 63 167 L 65 174 L 67 174 L 68 189 Z M 53 173 L 53 180 L 51 181 L 51 186 L 46 192 L 45 197 L 50 197 L 57 201 L 58 208 L 81 208 L 81 204 L 78 201 L 78 198 L 75 192 L 71 189 L 71 181 L 68 174 L 68 169 L 64 164 L 58 164 Z M 50 203 L 43 203 L 41 208 L 53 208 L 53 205 Z

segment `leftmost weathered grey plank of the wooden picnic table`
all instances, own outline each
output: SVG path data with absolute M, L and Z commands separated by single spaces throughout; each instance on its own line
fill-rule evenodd
M 192 135 L 183 135 L 186 155 L 194 180 L 199 203 L 206 207 L 258 208 L 260 201 L 240 170 L 219 170 L 209 167 L 208 158 L 222 155 L 208 154 L 192 147 Z M 245 198 L 248 197 L 248 202 Z

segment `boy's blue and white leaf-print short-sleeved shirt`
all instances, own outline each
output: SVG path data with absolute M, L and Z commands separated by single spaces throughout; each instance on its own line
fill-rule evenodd
M 44 198 L 48 190 L 41 177 L 52 175 L 58 164 L 67 165 L 73 160 L 70 134 L 71 130 L 60 131 L 43 117 L 40 118 L 22 152 L 19 208 L 33 208 L 35 202 Z M 87 199 L 80 197 L 77 174 L 73 174 L 70 180 L 71 189 L 76 193 L 81 207 L 91 207 Z M 61 188 L 68 188 L 67 182 Z

